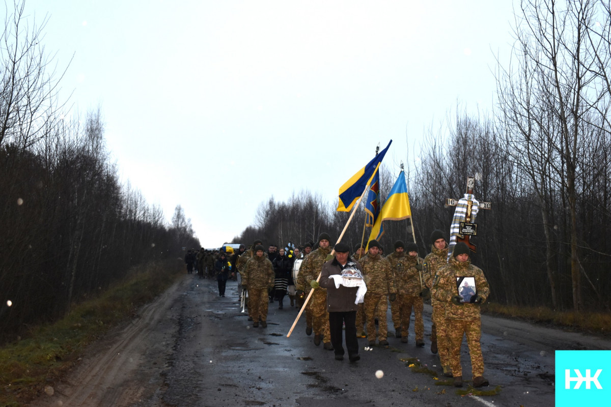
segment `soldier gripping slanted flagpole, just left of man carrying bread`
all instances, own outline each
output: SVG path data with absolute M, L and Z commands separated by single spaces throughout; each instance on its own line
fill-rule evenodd
M 312 286 L 312 280 L 317 280 L 323 269 L 323 264 L 327 261 L 327 256 L 331 254 L 329 247 L 329 234 L 321 233 L 318 237 L 318 248 L 305 256 L 304 261 L 299 267 L 296 289 L 299 292 L 307 292 Z M 327 311 L 327 289 L 319 287 L 312 293 L 312 298 L 307 307 L 312 311 L 312 328 L 314 330 L 314 344 L 320 345 L 321 337 L 326 350 L 333 350 L 331 345 L 331 332 L 329 331 L 329 312 Z

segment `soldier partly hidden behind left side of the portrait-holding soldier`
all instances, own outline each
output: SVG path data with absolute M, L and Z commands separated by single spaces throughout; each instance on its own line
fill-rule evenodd
M 431 233 L 431 253 L 424 258 L 424 268 L 422 277 L 425 281 L 426 289 L 423 290 L 423 298 L 430 297 L 430 289 L 433 287 L 437 274 L 442 267 L 447 265 L 448 245 L 445 242 L 444 232 L 435 229 Z M 431 352 L 439 351 L 439 362 L 444 369 L 446 377 L 452 377 L 450 371 L 449 347 L 447 328 L 445 326 L 445 309 L 444 304 L 431 298 L 431 307 L 433 308 L 433 325 L 431 325 Z

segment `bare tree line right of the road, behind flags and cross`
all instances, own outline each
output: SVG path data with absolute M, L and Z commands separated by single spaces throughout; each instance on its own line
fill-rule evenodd
M 496 69 L 497 106 L 483 117 L 457 108 L 443 134 L 424 135 L 406 176 L 415 241 L 423 256 L 433 229 L 449 231 L 445 200 L 461 198 L 475 175 L 475 195 L 492 210 L 478 214 L 472 260 L 486 273 L 491 300 L 610 311 L 611 2 L 516 7 L 513 53 Z M 397 172 L 382 164 L 382 203 Z M 337 238 L 348 214 L 336 206 L 307 190 L 286 202 L 272 197 L 234 242 L 315 242 L 320 231 Z M 364 216 L 357 209 L 342 239 L 353 247 Z M 409 222 L 387 222 L 385 253 L 395 240 L 414 239 Z

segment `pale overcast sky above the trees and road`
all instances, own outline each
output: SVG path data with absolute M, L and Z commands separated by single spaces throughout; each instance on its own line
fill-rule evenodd
M 204 247 L 270 196 L 334 203 L 393 140 L 397 174 L 457 104 L 489 111 L 508 0 L 26 0 L 73 112 L 99 106 L 122 181 L 180 204 Z M 409 149 L 409 155 L 408 155 Z M 392 184 L 393 182 L 391 182 Z

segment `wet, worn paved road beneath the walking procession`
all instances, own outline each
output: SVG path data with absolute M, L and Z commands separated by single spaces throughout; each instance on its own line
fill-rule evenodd
M 611 349 L 606 340 L 484 317 L 487 389 L 500 386 L 500 391 L 464 397 L 452 386 L 436 385 L 445 378 L 429 350 L 430 307 L 425 348 L 415 347 L 413 333 L 408 344 L 390 337 L 389 348 L 361 350 L 356 363 L 335 361 L 332 351 L 313 345 L 304 320 L 287 337 L 297 314 L 288 299 L 282 310 L 272 303 L 268 327 L 252 328 L 240 312 L 235 282 L 228 282 L 221 298 L 216 281 L 185 275 L 133 322 L 93 347 L 67 380 L 51 386 L 52 395 L 33 405 L 551 406 L 555 349 Z M 438 372 L 439 380 L 412 372 L 406 362 L 411 358 Z M 376 378 L 376 370 L 384 376 Z M 463 372 L 470 380 L 466 344 Z

